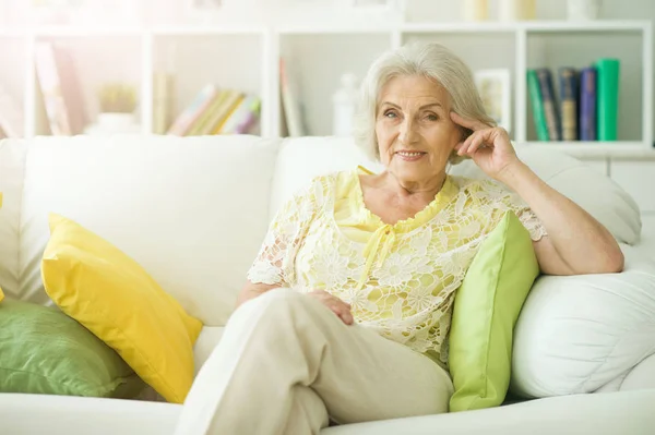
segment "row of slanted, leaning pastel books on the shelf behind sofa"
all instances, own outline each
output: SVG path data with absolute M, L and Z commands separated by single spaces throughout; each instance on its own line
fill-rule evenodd
M 248 134 L 259 125 L 261 99 L 235 89 L 209 84 L 174 120 L 167 134 Z

